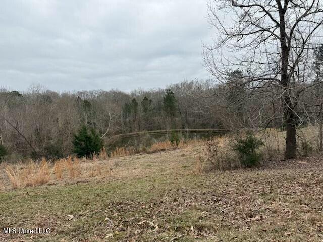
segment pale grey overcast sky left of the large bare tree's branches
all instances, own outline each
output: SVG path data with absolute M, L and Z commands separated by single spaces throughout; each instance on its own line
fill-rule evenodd
M 164 88 L 206 79 L 206 0 L 2 0 L 0 87 Z

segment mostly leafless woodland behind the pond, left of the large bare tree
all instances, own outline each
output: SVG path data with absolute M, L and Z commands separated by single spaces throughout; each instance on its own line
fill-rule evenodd
M 48 158 L 73 152 L 75 134 L 86 126 L 105 141 L 113 135 L 170 129 L 219 128 L 221 120 L 199 105 L 209 81 L 167 89 L 57 93 L 39 85 L 26 92 L 0 90 L 0 142 L 10 154 Z M 204 108 L 204 109 L 203 109 Z

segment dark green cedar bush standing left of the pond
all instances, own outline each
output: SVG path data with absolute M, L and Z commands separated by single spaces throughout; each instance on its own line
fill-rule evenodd
M 74 135 L 73 145 L 78 157 L 92 158 L 103 148 L 103 140 L 94 129 L 89 130 L 83 125 L 78 134 Z

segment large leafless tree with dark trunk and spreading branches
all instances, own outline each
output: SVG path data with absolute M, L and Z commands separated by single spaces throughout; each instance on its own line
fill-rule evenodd
M 320 2 L 208 2 L 209 22 L 216 28 L 217 37 L 213 45 L 204 46 L 205 65 L 223 83 L 232 70 L 239 69 L 243 73 L 241 86 L 248 95 L 266 103 L 281 103 L 281 118 L 286 125 L 286 159 L 296 156 L 296 128 L 303 122 L 299 115 L 300 96 L 310 86 L 306 76 L 308 52 L 323 23 Z M 264 109 L 259 106 L 259 120 L 261 110 Z M 276 114 L 265 123 L 274 118 Z

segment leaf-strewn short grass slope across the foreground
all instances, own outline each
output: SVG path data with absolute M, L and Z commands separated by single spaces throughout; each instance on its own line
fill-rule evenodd
M 199 147 L 116 159 L 114 176 L 0 193 L 0 241 L 323 241 L 321 157 L 194 175 Z M 1 232 L 1 231 L 0 231 Z

